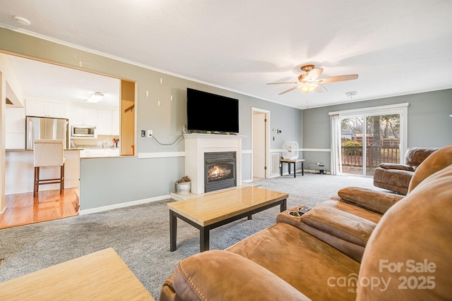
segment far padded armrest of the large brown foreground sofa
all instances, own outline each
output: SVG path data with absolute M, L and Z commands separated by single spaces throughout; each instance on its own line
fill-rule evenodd
M 384 214 L 404 196 L 367 188 L 347 187 L 338 191 L 341 202 Z

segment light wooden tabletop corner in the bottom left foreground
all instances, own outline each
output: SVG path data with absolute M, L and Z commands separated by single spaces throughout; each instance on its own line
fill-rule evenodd
M 0 300 L 154 300 L 108 248 L 0 283 Z

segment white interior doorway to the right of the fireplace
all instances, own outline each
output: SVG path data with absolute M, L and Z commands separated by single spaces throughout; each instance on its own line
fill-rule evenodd
M 268 178 L 270 111 L 251 108 L 251 179 Z

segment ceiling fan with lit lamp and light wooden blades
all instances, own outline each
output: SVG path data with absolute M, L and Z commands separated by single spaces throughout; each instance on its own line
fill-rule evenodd
M 356 80 L 358 78 L 357 74 L 331 76 L 330 78 L 319 78 L 323 72 L 323 68 L 316 68 L 316 66 L 314 65 L 304 65 L 301 66 L 300 69 L 304 71 L 304 73 L 298 75 L 298 82 L 268 82 L 267 85 L 278 85 L 278 84 L 296 85 L 295 87 L 292 87 L 289 90 L 285 90 L 279 93 L 278 95 L 285 94 L 297 88 L 306 93 L 309 93 L 311 91 L 325 92 L 327 91 L 326 87 L 323 87 L 323 85 L 320 84 L 327 82 L 343 82 L 345 80 Z

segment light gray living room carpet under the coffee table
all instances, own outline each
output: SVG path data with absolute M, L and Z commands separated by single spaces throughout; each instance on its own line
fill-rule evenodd
M 254 181 L 262 188 L 287 192 L 287 208 L 314 207 L 346 186 L 379 190 L 371 178 L 305 173 Z M 169 252 L 167 199 L 134 207 L 73 216 L 0 230 L 0 282 L 113 247 L 158 300 L 160 288 L 177 263 L 199 252 L 199 231 L 178 221 L 177 250 Z M 210 232 L 210 250 L 222 250 L 275 223 L 279 207 Z

